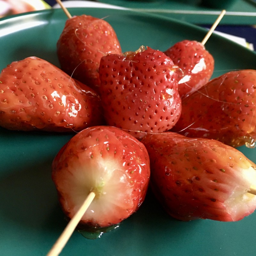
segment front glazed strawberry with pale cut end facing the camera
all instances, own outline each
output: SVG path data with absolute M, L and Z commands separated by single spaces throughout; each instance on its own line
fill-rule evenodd
M 142 204 L 149 182 L 149 157 L 142 143 L 109 126 L 77 133 L 52 163 L 52 179 L 65 214 L 72 218 L 86 196 L 96 196 L 79 228 L 122 222 Z

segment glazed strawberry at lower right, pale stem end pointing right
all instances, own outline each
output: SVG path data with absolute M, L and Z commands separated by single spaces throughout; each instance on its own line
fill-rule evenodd
M 164 209 L 179 220 L 237 221 L 254 212 L 256 165 L 217 140 L 147 134 L 151 188 Z

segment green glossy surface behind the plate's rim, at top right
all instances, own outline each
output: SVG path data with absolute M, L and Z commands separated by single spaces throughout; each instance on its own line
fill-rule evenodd
M 213 24 L 220 11 L 227 13 L 220 24 L 255 25 L 255 0 L 100 0 L 125 8 L 160 14 L 194 24 Z

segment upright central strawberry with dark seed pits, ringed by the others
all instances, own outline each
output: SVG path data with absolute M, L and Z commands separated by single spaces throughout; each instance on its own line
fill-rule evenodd
M 181 112 L 176 67 L 163 52 L 142 46 L 100 60 L 100 94 L 109 125 L 129 131 L 163 132 Z

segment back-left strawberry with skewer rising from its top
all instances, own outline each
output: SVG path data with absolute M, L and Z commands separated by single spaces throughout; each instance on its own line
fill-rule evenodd
M 89 15 L 66 21 L 57 42 L 61 69 L 98 91 L 100 58 L 109 53 L 121 54 L 120 43 L 111 25 Z

